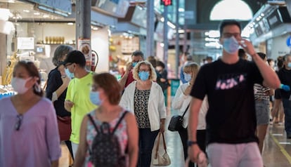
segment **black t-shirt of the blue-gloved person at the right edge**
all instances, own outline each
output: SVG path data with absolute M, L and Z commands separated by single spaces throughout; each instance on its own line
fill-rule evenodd
M 278 71 L 278 77 L 284 85 L 290 86 L 291 88 L 291 70 L 287 70 L 285 68 L 281 68 Z M 290 97 L 290 91 L 284 91 L 283 89 L 280 89 L 281 98 L 287 98 Z

